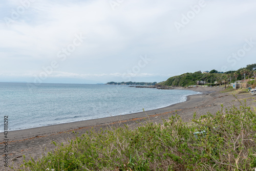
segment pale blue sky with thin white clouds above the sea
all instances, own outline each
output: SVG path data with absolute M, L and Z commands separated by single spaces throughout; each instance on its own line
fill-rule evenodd
M 3 0 L 0 82 L 161 82 L 256 63 L 256 1 Z

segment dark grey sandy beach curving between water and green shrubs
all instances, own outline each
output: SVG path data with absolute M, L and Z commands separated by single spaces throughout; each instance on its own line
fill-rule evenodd
M 231 105 L 240 106 L 241 104 L 237 99 L 241 101 L 246 99 L 247 105 L 256 106 L 255 96 L 251 96 L 250 93 L 237 94 L 237 97 L 234 97 L 229 93 L 221 93 L 220 91 L 223 88 L 199 87 L 190 88 L 189 90 L 202 92 L 202 94 L 188 96 L 185 102 L 152 111 L 11 131 L 8 133 L 8 165 L 20 165 L 23 161 L 23 155 L 27 159 L 29 159 L 29 156 L 40 158 L 55 148 L 55 145 L 51 143 L 52 141 L 68 143 L 70 139 L 75 137 L 75 134 L 80 136 L 91 129 L 98 131 L 100 129 L 110 129 L 112 126 L 123 126 L 124 124 L 134 129 L 148 120 L 153 123 L 162 123 L 163 119 L 168 120 L 170 116 L 175 114 L 180 115 L 183 121 L 190 122 L 195 112 L 197 116 L 200 116 L 207 114 L 207 112 L 215 114 L 221 109 L 221 104 L 224 105 L 224 108 Z M 1 134 L 1 137 L 4 137 L 4 133 Z M 1 138 L 0 144 L 0 151 L 3 154 L 3 138 Z M 3 156 L 0 163 L 0 170 L 8 170 L 4 167 Z

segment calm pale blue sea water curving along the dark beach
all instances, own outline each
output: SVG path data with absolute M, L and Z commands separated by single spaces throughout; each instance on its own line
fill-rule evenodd
M 186 101 L 190 90 L 158 90 L 105 84 L 0 82 L 0 132 L 110 117 Z

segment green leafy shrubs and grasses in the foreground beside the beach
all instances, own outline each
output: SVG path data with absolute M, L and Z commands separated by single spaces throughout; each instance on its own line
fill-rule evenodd
M 91 131 L 57 146 L 17 170 L 254 170 L 255 108 L 241 103 L 215 115 L 195 114 L 193 123 L 173 116 L 163 125 Z

